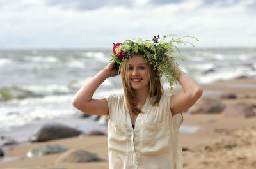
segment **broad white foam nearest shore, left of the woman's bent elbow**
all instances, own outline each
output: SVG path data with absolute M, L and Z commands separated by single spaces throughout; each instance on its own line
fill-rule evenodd
M 7 101 L 7 104 L 0 108 L 0 128 L 3 125 L 22 126 L 40 119 L 74 114 L 72 97 L 73 95 L 46 96 Z

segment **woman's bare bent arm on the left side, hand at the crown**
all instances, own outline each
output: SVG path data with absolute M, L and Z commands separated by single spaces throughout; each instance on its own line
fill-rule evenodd
M 83 85 L 72 99 L 72 105 L 78 110 L 91 115 L 108 115 L 108 103 L 106 98 L 93 99 L 96 89 L 109 77 L 116 75 L 113 70 L 114 62 L 99 71 L 95 77 Z

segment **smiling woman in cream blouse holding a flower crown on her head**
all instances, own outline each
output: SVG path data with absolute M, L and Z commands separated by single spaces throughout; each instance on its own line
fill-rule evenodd
M 181 112 L 200 98 L 202 89 L 166 55 L 170 45 L 158 43 L 158 39 L 152 39 L 151 45 L 141 40 L 116 44 L 114 61 L 81 87 L 72 101 L 87 114 L 108 116 L 109 168 L 182 168 Z M 164 94 L 162 70 L 169 82 L 175 77 L 184 92 Z M 93 99 L 99 85 L 118 73 L 124 96 Z

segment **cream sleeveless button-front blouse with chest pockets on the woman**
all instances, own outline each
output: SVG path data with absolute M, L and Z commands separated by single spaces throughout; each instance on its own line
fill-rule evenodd
M 179 137 L 183 117 L 172 117 L 170 94 L 162 96 L 159 106 L 153 106 L 147 98 L 134 129 L 124 96 L 111 95 L 106 99 L 110 169 L 183 168 Z

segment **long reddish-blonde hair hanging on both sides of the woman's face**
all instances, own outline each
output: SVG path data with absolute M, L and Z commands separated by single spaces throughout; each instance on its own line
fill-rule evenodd
M 128 76 L 129 69 L 128 69 L 127 62 L 128 62 L 128 59 L 127 61 L 123 62 L 123 64 L 120 66 L 120 75 L 122 77 L 122 83 L 124 87 L 124 96 L 126 99 L 126 104 L 129 109 L 129 112 L 131 112 L 132 114 L 138 115 L 141 113 L 141 110 L 136 108 L 137 101 L 136 99 L 134 99 L 134 93 L 132 91 L 132 87 L 129 82 L 129 76 Z M 146 62 L 148 63 L 148 61 Z M 162 94 L 164 94 L 164 90 L 163 90 L 163 86 L 161 85 L 160 78 L 155 78 L 157 75 L 157 69 L 154 70 L 154 67 L 149 63 L 148 63 L 148 68 L 149 68 L 148 96 L 150 97 L 151 104 L 155 106 L 159 104 L 161 96 Z

